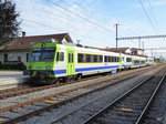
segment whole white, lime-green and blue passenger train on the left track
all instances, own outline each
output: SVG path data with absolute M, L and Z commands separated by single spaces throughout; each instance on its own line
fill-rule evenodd
M 32 46 L 27 70 L 34 83 L 52 84 L 83 75 L 152 65 L 153 62 L 145 56 L 46 42 Z

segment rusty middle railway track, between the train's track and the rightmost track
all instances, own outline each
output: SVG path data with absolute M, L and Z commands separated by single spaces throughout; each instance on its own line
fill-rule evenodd
M 152 70 L 152 68 L 149 68 L 149 70 Z M 147 71 L 147 70 L 146 70 Z M 125 74 L 125 75 L 123 75 L 123 76 L 121 76 L 121 81 L 123 81 L 123 80 L 126 80 L 126 79 L 129 79 L 129 78 L 133 78 L 133 76 L 135 76 L 135 75 L 137 75 L 137 74 L 141 74 L 141 73 L 143 73 L 143 72 L 145 72 L 145 71 L 139 71 L 139 72 L 132 72 L 132 73 L 127 73 L 127 74 Z M 120 76 L 118 76 L 120 78 Z M 117 81 L 120 81 L 120 80 L 117 80 L 118 78 L 112 78 L 112 79 L 106 79 L 106 80 L 102 80 L 102 81 L 98 81 L 98 82 L 93 82 L 93 83 L 91 83 L 91 84 L 86 84 L 86 85 L 82 85 L 82 86 L 79 86 L 79 87 L 74 87 L 74 89 L 71 89 L 71 90 L 64 90 L 64 91 L 62 91 L 62 92 L 59 92 L 59 93 L 55 93 L 55 94 L 52 94 L 52 95 L 48 95 L 48 96 L 44 96 L 44 97 L 40 97 L 40 99 L 35 99 L 35 100 L 31 100 L 31 101 L 28 101 L 28 102 L 23 102 L 23 103 L 18 103 L 18 104 L 15 104 L 15 105 L 12 105 L 12 106 L 7 106 L 7 107 L 2 107 L 2 108 L 0 108 L 0 113 L 4 113 L 4 112 L 9 112 L 9 111 L 13 111 L 13 110 L 17 110 L 17 108 L 20 108 L 20 107 L 22 107 L 22 110 L 23 110 L 23 106 L 27 106 L 27 105 L 32 105 L 32 104 L 34 104 L 34 105 L 39 105 L 40 103 L 39 102 L 46 102 L 46 103 L 56 103 L 55 104 L 55 106 L 59 106 L 59 105 L 62 105 L 62 104 L 64 104 L 64 103 L 66 103 L 66 101 L 64 101 L 64 100 L 69 100 L 69 101 L 72 101 L 72 100 L 75 100 L 76 97 L 80 97 L 81 95 L 83 95 L 83 94 L 86 94 L 87 92 L 92 92 L 93 90 L 95 90 L 95 89 L 100 89 L 100 87 L 102 87 L 102 89 L 104 89 L 104 87 L 106 87 L 106 86 L 108 86 L 108 85 L 112 85 L 112 84 L 107 84 L 106 82 L 107 81 L 112 81 L 112 83 L 114 82 L 117 82 Z M 80 96 L 79 96 L 80 95 Z M 46 101 L 45 101 L 46 100 Z M 68 101 L 68 102 L 69 102 Z M 35 104 L 35 103 L 39 103 L 39 104 Z M 45 105 L 45 104 L 44 104 Z M 40 105 L 39 105 L 40 106 Z M 43 105 L 41 105 L 42 107 L 43 107 Z M 11 120 L 11 121 L 20 121 L 20 120 L 23 120 L 23 118 L 27 118 L 27 117 L 29 117 L 30 115 L 34 115 L 34 114 L 38 114 L 39 112 L 42 112 L 43 110 L 45 111 L 45 110 L 48 110 L 48 108 L 50 108 L 50 107 L 54 107 L 54 105 L 50 105 L 50 104 L 46 104 L 46 107 L 44 107 L 44 108 L 40 108 L 40 110 L 38 110 L 38 111 L 35 111 L 35 112 L 31 112 L 30 114 L 25 114 L 23 117 L 17 117 L 17 118 L 13 118 L 13 120 Z M 7 118 L 4 118 L 4 121 L 6 121 Z M 2 121 L 3 122 L 3 121 Z M 10 123 L 10 121 L 8 122 L 8 123 Z

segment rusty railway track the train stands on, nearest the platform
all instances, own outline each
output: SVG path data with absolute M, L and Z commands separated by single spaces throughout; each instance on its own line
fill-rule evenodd
M 148 71 L 148 70 L 152 70 L 152 66 L 147 68 L 146 71 Z M 139 72 L 143 73 L 145 71 L 139 70 L 138 72 L 135 71 L 135 72 L 126 73 L 123 76 L 131 75 L 131 74 L 137 74 Z M 101 75 L 90 76 L 90 78 L 81 79 L 79 81 L 70 81 L 70 82 L 64 82 L 64 83 L 62 82 L 62 83 L 52 84 L 52 85 L 44 85 L 44 86 L 27 85 L 27 86 L 19 86 L 19 87 L 12 87 L 12 89 L 7 89 L 7 90 L 0 90 L 0 100 L 11 97 L 11 96 L 22 95 L 25 93 L 32 93 L 32 92 L 37 92 L 37 91 L 46 90 L 46 89 L 58 87 L 58 86 L 62 86 L 62 85 L 66 85 L 66 84 L 93 80 L 93 79 L 97 79 L 97 78 L 101 78 Z M 118 78 L 114 78 L 113 80 L 115 80 L 115 79 L 118 79 Z

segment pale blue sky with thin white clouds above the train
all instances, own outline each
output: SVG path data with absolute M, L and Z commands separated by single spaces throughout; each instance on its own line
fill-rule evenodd
M 118 37 L 166 34 L 166 0 L 12 0 L 27 35 L 70 33 L 83 45 L 115 48 Z M 166 56 L 166 40 L 143 39 L 153 55 Z M 118 48 L 138 48 L 138 40 L 118 41 Z M 163 50 L 157 50 L 163 48 Z M 152 55 L 152 50 L 146 50 Z

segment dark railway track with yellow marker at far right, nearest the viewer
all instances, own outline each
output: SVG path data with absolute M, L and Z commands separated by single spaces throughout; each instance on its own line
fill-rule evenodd
M 163 76 L 162 76 L 163 75 Z M 166 83 L 166 71 L 151 76 L 106 107 L 87 118 L 84 124 L 143 124 L 160 85 Z M 151 121 L 149 121 L 151 122 Z M 147 124 L 149 124 L 149 122 Z M 153 122 L 154 123 L 154 122 Z

